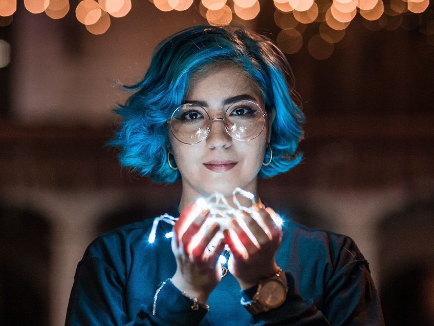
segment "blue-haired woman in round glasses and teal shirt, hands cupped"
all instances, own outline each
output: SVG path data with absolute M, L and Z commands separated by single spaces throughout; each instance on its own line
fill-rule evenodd
M 300 161 L 303 115 L 289 72 L 269 39 L 241 27 L 192 27 L 158 46 L 118 110 L 112 145 L 124 166 L 158 182 L 181 178 L 175 236 L 166 239 L 172 228 L 162 223 L 149 243 L 146 219 L 93 241 L 77 267 L 67 324 L 383 324 L 354 242 L 291 221 L 280 227 L 258 199 L 258 176 Z M 237 187 L 255 195 L 253 213 L 194 237 L 209 215 L 194 201 L 219 192 L 234 206 Z

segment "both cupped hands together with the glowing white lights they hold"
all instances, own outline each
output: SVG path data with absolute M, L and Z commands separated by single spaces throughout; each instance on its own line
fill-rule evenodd
M 206 205 L 201 201 L 189 205 L 173 228 L 172 251 L 177 271 L 172 282 L 201 303 L 206 302 L 221 280 L 218 257 L 225 244 L 231 251 L 229 271 L 242 289 L 255 286 L 278 270 L 275 255 L 282 234 L 278 214 L 262 203 L 246 208 L 237 202 L 238 209 L 234 209 L 227 202 L 219 202 L 220 194 L 214 196 L 215 202 L 204 200 Z M 253 195 L 249 199 L 254 202 Z M 221 229 L 223 233 L 219 232 Z

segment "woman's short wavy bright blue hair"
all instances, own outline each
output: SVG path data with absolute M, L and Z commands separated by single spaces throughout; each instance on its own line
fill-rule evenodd
M 272 177 L 300 162 L 296 150 L 304 116 L 293 100 L 292 72 L 285 55 L 269 38 L 244 27 L 195 26 L 164 39 L 143 79 L 124 86 L 135 93 L 115 109 L 123 120 L 108 142 L 120 148 L 122 166 L 156 182 L 171 183 L 181 177 L 167 164 L 167 120 L 182 104 L 192 75 L 216 63 L 232 63 L 244 70 L 261 89 L 265 109 L 275 111 L 270 138 L 273 159 L 258 175 Z

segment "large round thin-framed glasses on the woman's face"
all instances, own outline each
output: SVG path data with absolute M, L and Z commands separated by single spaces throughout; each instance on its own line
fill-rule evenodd
M 231 104 L 223 118 L 210 118 L 208 112 L 193 103 L 181 105 L 173 111 L 170 130 L 173 136 L 184 144 L 197 144 L 204 140 L 211 131 L 211 123 L 222 120 L 226 132 L 237 140 L 251 140 L 259 136 L 265 126 L 265 116 L 261 107 L 248 100 Z

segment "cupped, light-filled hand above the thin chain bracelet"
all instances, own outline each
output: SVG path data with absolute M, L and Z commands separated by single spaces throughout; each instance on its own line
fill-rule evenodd
M 195 246 L 191 240 L 201 229 L 209 211 L 201 211 L 196 203 L 191 203 L 179 216 L 173 227 L 172 251 L 177 261 L 177 270 L 172 283 L 190 298 L 198 298 L 205 304 L 210 293 L 222 279 L 222 269 L 218 258 L 225 242 L 220 242 L 214 250 L 208 252 L 207 246 L 220 226 L 214 223 Z

